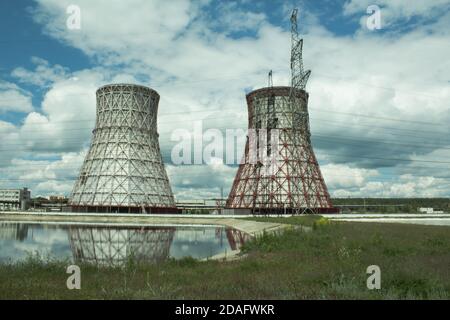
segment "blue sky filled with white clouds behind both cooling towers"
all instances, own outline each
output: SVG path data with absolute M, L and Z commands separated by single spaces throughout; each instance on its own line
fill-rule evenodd
M 81 29 L 66 27 L 67 6 Z M 369 5 L 382 28 L 366 27 Z M 300 9 L 313 144 L 334 196 L 449 196 L 449 1 L 2 1 L 0 187 L 69 194 L 95 89 L 161 94 L 160 143 L 182 199 L 216 197 L 235 166 L 174 166 L 176 128 L 244 128 L 245 93 L 289 83 Z M 214 177 L 211 179 L 211 177 Z

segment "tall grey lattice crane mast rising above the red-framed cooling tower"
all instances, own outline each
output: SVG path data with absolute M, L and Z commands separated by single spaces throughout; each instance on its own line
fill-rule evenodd
M 291 15 L 291 96 L 295 89 L 305 89 L 311 74 L 311 70 L 305 71 L 303 68 L 303 39 L 298 34 L 297 13 L 295 8 Z

